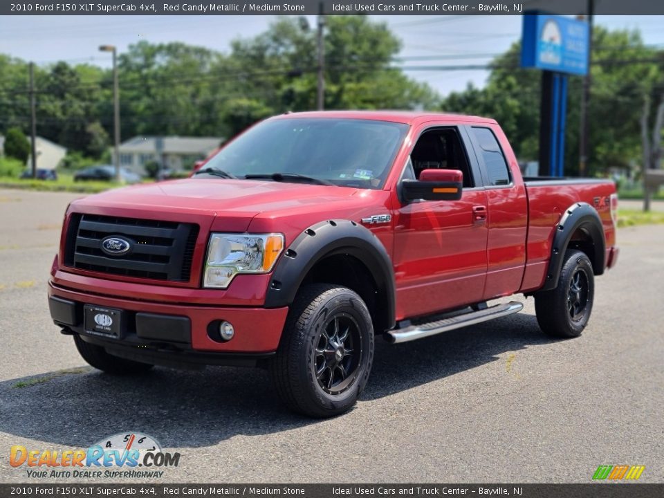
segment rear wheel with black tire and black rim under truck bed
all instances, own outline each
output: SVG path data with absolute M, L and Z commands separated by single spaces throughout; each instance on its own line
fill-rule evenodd
M 578 337 L 588 324 L 594 297 L 590 259 L 580 250 L 567 250 L 556 288 L 535 294 L 540 329 L 551 337 Z

